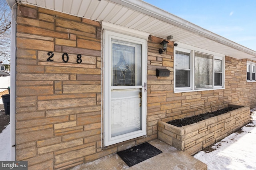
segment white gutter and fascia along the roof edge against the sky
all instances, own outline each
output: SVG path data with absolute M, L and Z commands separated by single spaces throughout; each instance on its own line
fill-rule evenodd
M 195 33 L 197 35 L 200 35 L 204 38 L 210 39 L 212 41 L 216 41 L 220 44 L 226 45 L 233 49 L 237 49 L 249 55 L 256 56 L 256 51 L 252 49 L 244 47 L 238 43 L 235 43 L 234 41 L 231 41 L 216 33 L 213 33 L 202 27 L 199 27 L 198 25 L 195 25 L 178 16 L 170 14 L 169 12 L 161 10 L 160 8 L 157 8 L 156 6 L 148 4 L 142 0 L 108 0 L 108 1 L 126 6 L 127 8 L 131 8 L 132 10 L 136 10 L 138 12 L 141 12 L 142 14 L 146 14 L 158 20 L 164 21 L 166 23 L 170 23 L 172 25 L 175 25 L 177 27 L 180 27 L 182 29 Z

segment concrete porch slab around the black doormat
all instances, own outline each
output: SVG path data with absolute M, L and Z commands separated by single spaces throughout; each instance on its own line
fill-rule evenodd
M 148 142 L 162 151 L 152 158 L 129 167 L 118 156 L 111 154 L 98 160 L 78 165 L 72 170 L 207 170 L 207 165 L 193 156 L 155 139 Z

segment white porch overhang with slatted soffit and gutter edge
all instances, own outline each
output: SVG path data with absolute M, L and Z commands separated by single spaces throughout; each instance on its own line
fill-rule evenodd
M 17 0 L 16 0 L 17 1 Z M 105 21 L 172 41 L 256 61 L 256 51 L 212 33 L 142 0 L 19 0 L 82 18 Z M 12 6 L 15 0 L 7 0 Z

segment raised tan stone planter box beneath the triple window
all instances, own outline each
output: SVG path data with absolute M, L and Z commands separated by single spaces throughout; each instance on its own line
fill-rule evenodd
M 182 127 L 158 121 L 158 139 L 193 155 L 250 122 L 249 106 L 229 107 L 237 109 Z

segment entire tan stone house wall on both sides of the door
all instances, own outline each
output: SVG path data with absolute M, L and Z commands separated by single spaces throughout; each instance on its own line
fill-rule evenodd
M 226 57 L 226 89 L 173 93 L 173 42 L 148 39 L 147 136 L 102 146 L 102 37 L 97 21 L 18 5 L 16 159 L 29 169 L 65 169 L 157 138 L 158 121 L 217 110 L 234 102 L 256 106 L 246 61 Z M 54 61 L 46 61 L 47 53 Z M 62 61 L 68 53 L 69 61 Z M 77 54 L 82 55 L 78 64 Z M 104 57 L 104 56 L 103 56 Z M 66 59 L 66 56 L 64 56 Z M 156 77 L 156 68 L 169 77 Z

